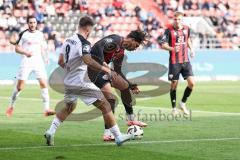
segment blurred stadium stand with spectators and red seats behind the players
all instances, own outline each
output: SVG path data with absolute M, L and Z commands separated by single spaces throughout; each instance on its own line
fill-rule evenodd
M 186 14 L 195 48 L 239 49 L 239 8 L 238 0 L 0 0 L 0 51 L 13 51 L 9 38 L 27 28 L 27 15 L 37 17 L 48 50 L 55 51 L 76 31 L 82 14 L 97 23 L 89 39 L 92 43 L 141 28 L 150 35 L 145 48 L 158 49 L 157 41 L 176 10 Z

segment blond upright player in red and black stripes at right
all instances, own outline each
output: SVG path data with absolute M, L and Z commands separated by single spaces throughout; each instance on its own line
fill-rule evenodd
M 191 58 L 194 57 L 195 52 L 191 44 L 190 29 L 188 26 L 183 25 L 183 13 L 176 12 L 174 14 L 174 22 L 165 30 L 160 44 L 170 54 L 168 79 L 171 81 L 170 97 L 173 108 L 172 113 L 178 114 L 176 108 L 176 90 L 179 75 L 181 74 L 184 80 L 187 80 L 188 86 L 179 103 L 179 108 L 188 115 L 190 112 L 186 107 L 186 101 L 195 85 L 192 66 L 188 57 L 188 48 L 190 49 Z

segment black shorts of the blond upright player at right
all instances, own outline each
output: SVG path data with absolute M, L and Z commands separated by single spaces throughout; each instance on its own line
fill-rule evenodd
M 190 62 L 169 64 L 168 80 L 179 80 L 179 75 L 182 74 L 183 79 L 193 76 L 192 65 Z

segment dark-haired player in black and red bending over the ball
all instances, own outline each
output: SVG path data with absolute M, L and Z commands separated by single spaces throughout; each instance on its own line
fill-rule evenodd
M 108 65 L 112 62 L 113 70 L 117 73 L 117 76 L 108 77 L 105 73 L 97 72 L 91 68 L 88 68 L 88 76 L 90 80 L 101 89 L 104 96 L 111 104 L 113 112 L 116 105 L 116 99 L 112 94 L 112 87 L 121 92 L 121 99 L 126 110 L 127 124 L 129 126 L 138 125 L 145 127 L 147 124 L 134 120 L 132 97 L 130 92 L 138 94 L 140 91 L 137 85 L 128 81 L 121 71 L 124 51 L 134 51 L 137 49 L 146 41 L 146 36 L 146 33 L 141 30 L 131 31 L 126 37 L 112 34 L 96 42 L 91 49 L 92 58 L 100 64 Z M 111 136 L 109 129 L 105 126 L 103 140 L 110 141 L 112 139 L 113 137 Z

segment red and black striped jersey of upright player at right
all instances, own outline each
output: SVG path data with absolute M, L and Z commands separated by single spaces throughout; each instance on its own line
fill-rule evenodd
M 169 62 L 171 64 L 189 62 L 187 44 L 189 36 L 190 29 L 185 25 L 182 29 L 175 29 L 171 25 L 165 30 L 164 35 L 160 40 L 160 44 L 168 43 L 171 47 L 175 47 L 175 45 L 180 46 L 180 51 L 178 53 L 170 51 Z

